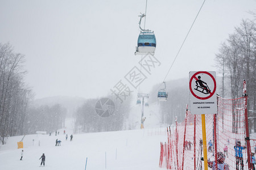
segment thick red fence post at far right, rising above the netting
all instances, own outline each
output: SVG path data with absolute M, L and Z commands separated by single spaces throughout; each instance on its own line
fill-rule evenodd
M 249 127 L 248 127 L 248 112 L 247 112 L 247 94 L 246 94 L 246 82 L 243 80 L 243 107 L 245 108 L 245 129 L 246 129 L 246 144 L 247 144 L 247 160 L 248 168 L 251 169 L 251 146 L 249 137 Z

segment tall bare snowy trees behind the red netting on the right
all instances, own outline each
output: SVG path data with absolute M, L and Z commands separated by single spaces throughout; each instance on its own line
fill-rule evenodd
M 242 82 L 246 80 L 249 110 L 249 130 L 256 130 L 256 24 L 255 20 L 242 20 L 228 39 L 220 45 L 216 65 L 222 74 L 221 97 L 232 99 L 242 96 Z M 227 86 L 225 86 L 227 84 Z M 235 108 L 233 109 L 235 110 Z M 233 122 L 236 122 L 233 112 Z M 237 129 L 235 123 L 233 130 Z M 233 131 L 235 132 L 235 131 Z

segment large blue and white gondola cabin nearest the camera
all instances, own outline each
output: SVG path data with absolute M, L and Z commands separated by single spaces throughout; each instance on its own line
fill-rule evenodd
M 141 32 L 138 37 L 138 46 L 135 55 L 155 54 L 156 39 L 154 32 Z

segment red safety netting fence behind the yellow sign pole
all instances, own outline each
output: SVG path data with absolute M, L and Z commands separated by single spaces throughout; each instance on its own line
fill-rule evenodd
M 217 97 L 218 113 L 205 114 L 207 137 L 207 158 L 209 162 L 217 162 L 217 152 L 225 154 L 225 163 L 229 169 L 236 169 L 241 162 L 243 169 L 249 169 L 247 152 L 254 151 L 254 145 L 246 143 L 245 97 L 223 99 Z M 214 117 L 216 119 L 214 120 Z M 216 133 L 214 133 L 216 129 Z M 166 169 L 204 169 L 203 140 L 201 115 L 186 112 L 185 120 L 167 128 L 168 141 L 161 143 L 159 167 Z M 216 134 L 216 135 L 215 135 Z M 216 137 L 216 138 L 214 138 Z M 249 139 L 248 139 L 249 140 Z M 242 159 L 236 158 L 235 146 L 241 142 Z M 250 143 L 250 142 L 249 142 Z M 249 147 L 248 147 L 249 146 Z M 247 148 L 250 148 L 247 150 Z M 209 167 L 208 167 L 209 168 Z M 212 168 L 209 168 L 212 169 Z

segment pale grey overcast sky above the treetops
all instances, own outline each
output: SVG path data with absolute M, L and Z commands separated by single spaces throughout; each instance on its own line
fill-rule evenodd
M 203 0 L 148 0 L 146 28 L 156 36 L 155 57 L 140 92 L 163 81 Z M 0 42 L 10 42 L 25 55 L 26 83 L 35 98 L 100 97 L 139 67 L 134 56 L 139 35 L 138 1 L 10 1 L 0 0 Z M 256 0 L 208 0 L 166 80 L 188 78 L 189 71 L 217 71 L 214 57 Z M 144 21 L 142 22 L 144 23 Z

